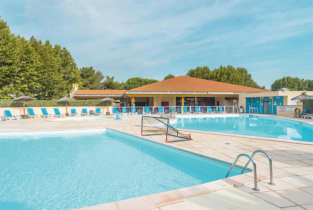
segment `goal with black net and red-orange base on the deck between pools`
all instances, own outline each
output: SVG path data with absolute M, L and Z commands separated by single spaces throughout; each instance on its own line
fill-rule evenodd
M 182 134 L 169 123 L 170 118 L 142 116 L 141 135 L 166 135 L 165 142 L 192 140 L 190 134 Z

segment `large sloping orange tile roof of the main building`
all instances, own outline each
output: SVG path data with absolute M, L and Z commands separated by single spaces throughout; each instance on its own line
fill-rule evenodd
M 268 90 L 234 85 L 224 82 L 177 76 L 129 91 L 143 92 L 267 92 Z

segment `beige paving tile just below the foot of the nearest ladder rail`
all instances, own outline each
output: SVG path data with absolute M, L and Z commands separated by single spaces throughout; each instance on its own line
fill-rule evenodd
M 268 201 L 278 207 L 289 207 L 289 206 L 296 206 L 295 203 L 287 200 L 280 194 L 274 192 L 274 191 L 269 191 L 269 192 L 256 192 L 253 193 L 253 195 L 264 199 L 265 201 Z

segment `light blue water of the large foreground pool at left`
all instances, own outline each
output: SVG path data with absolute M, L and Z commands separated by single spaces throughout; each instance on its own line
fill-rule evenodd
M 230 168 L 110 129 L 31 134 L 0 134 L 1 209 L 91 206 L 218 180 Z

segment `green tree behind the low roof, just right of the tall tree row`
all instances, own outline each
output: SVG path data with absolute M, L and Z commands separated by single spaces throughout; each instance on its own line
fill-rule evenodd
M 104 75 L 101 71 L 95 71 L 92 66 L 80 68 L 80 76 L 82 78 L 81 89 L 100 89 Z

